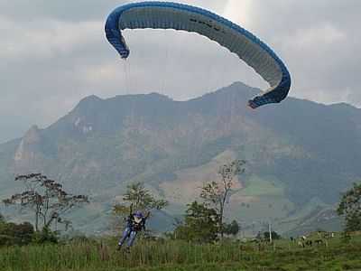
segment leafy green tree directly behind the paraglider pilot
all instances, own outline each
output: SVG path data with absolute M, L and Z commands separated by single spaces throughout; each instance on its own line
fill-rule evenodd
M 123 195 L 123 201 L 126 204 L 117 203 L 113 206 L 113 213 L 121 219 L 129 215 L 131 206 L 134 210 L 150 211 L 162 210 L 168 205 L 168 201 L 157 200 L 152 192 L 144 187 L 143 182 L 129 184 Z M 119 224 L 118 221 L 116 221 L 116 224 Z

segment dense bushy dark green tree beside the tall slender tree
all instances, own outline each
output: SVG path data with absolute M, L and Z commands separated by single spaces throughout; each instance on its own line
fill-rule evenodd
M 185 220 L 174 229 L 173 237 L 199 243 L 217 240 L 219 220 L 217 211 L 197 201 L 187 206 Z

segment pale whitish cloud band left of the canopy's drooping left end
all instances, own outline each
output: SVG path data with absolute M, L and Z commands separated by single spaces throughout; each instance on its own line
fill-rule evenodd
M 51 59 L 79 50 L 97 41 L 102 22 L 64 23 L 55 20 L 37 20 L 16 23 L 0 17 L 0 58 L 7 61 Z

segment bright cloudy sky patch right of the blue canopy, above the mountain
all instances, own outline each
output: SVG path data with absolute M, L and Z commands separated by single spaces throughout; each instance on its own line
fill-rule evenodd
M 245 21 L 240 15 L 234 20 L 245 23 L 285 61 L 292 73 L 292 96 L 361 106 L 361 57 L 356 53 L 361 2 L 229 0 L 226 15 L 228 10 L 245 10 Z

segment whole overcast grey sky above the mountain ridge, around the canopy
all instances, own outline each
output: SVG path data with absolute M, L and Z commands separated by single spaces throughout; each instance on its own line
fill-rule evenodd
M 81 98 L 159 92 L 199 97 L 242 81 L 267 85 L 216 42 L 171 30 L 126 31 L 121 61 L 106 42 L 114 0 L 0 0 L 0 143 L 46 127 Z M 361 107 L 361 1 L 189 0 L 255 33 L 292 75 L 290 96 Z

